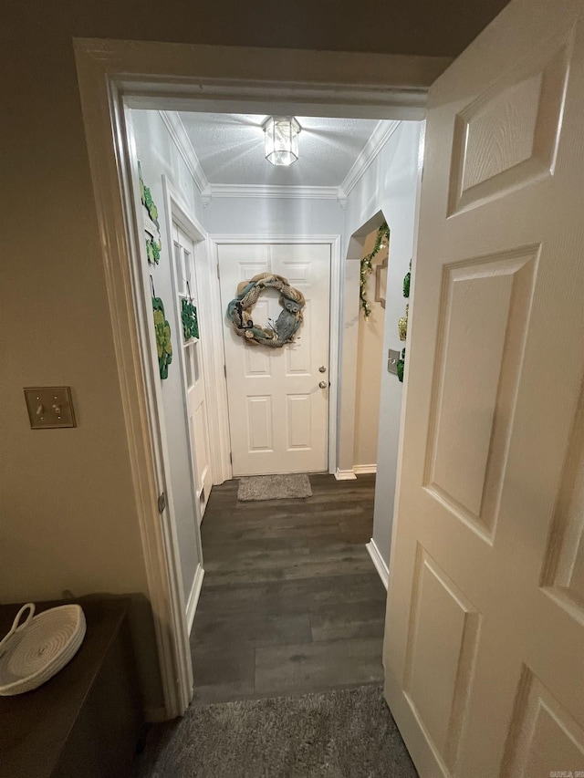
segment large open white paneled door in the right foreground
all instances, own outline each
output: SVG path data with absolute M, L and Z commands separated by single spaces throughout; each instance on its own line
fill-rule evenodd
M 583 128 L 579 0 L 429 95 L 384 645 L 422 778 L 584 771 Z

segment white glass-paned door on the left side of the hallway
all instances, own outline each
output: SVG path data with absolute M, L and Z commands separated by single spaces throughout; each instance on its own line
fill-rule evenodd
M 183 299 L 192 298 L 198 309 L 199 284 L 196 276 L 196 252 L 202 247 L 193 244 L 192 238 L 172 224 L 174 241 L 174 276 L 177 290 L 179 320 Z M 184 397 L 186 403 L 196 498 L 199 503 L 199 523 L 211 494 L 213 473 L 209 451 L 209 423 L 204 389 L 203 351 L 198 337 L 185 340 L 181 333 L 184 364 Z

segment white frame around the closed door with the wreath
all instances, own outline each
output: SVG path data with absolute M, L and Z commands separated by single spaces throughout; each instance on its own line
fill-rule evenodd
M 329 341 L 328 341 L 328 377 L 332 391 L 328 392 L 328 472 L 337 469 L 337 409 L 339 407 L 340 374 L 339 374 L 339 337 L 342 325 L 340 314 L 340 298 L 342 295 L 343 278 L 340 261 L 340 235 L 286 235 L 286 234 L 213 234 L 209 236 L 209 242 L 213 246 L 214 264 L 219 266 L 218 246 L 220 244 L 321 244 L 330 246 L 330 276 L 329 276 Z M 219 286 L 218 280 L 214 282 Z M 338 294 L 337 294 L 338 293 Z M 224 345 L 224 318 L 221 316 L 215 320 L 214 341 L 221 343 L 223 364 L 225 364 Z M 223 369 L 223 368 L 222 368 Z M 224 379 L 225 399 L 227 393 L 226 379 Z M 225 414 L 227 405 L 224 406 Z M 227 429 L 229 417 L 226 416 Z M 229 477 L 232 477 L 231 464 L 229 465 Z

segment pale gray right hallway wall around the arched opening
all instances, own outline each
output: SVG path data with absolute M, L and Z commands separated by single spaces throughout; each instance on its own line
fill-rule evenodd
M 405 312 L 402 282 L 413 250 L 421 128 L 422 122 L 418 121 L 400 123 L 349 193 L 345 211 L 343 256 L 348 253 L 350 236 L 379 211 L 391 229 L 382 365 L 389 348 L 403 348 L 397 325 Z M 382 368 L 372 540 L 385 565 L 390 561 L 402 392 L 397 376 Z

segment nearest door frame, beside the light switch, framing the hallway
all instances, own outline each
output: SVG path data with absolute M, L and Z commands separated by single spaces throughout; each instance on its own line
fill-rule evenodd
M 451 60 L 88 38 L 75 38 L 74 49 L 161 665 L 161 715 L 172 718 L 189 704 L 193 667 L 173 516 L 167 511 L 161 520 L 157 508 L 166 457 L 150 314 L 134 272 L 144 248 L 126 132 L 130 107 L 179 110 L 196 100 L 200 110 L 423 119 L 427 89 Z

